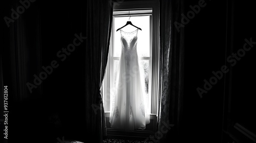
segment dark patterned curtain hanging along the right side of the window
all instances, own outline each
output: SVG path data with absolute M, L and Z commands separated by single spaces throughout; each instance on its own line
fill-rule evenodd
M 184 29 L 176 26 L 177 23 L 182 24 L 183 7 L 183 0 L 160 0 L 162 79 L 158 112 L 160 142 L 177 142 L 180 135 L 184 78 Z

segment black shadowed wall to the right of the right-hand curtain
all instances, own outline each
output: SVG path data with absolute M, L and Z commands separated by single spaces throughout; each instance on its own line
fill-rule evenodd
M 189 6 L 198 2 L 186 1 L 185 11 L 190 11 Z M 252 117 L 255 50 L 252 47 L 234 66 L 227 58 L 243 49 L 245 39 L 252 37 L 252 41 L 256 41 L 254 8 L 250 2 L 205 3 L 206 6 L 185 25 L 184 138 L 191 142 L 232 142 L 234 139 L 228 140 L 226 136 L 233 136 L 248 142 L 243 134 L 236 134 L 233 126 L 239 123 L 255 133 L 255 118 Z M 228 72 L 203 93 L 204 79 L 209 82 L 214 76 L 212 71 L 221 70 L 223 65 Z M 202 88 L 202 98 L 198 87 Z M 231 134 L 230 128 L 236 132 Z M 222 129 L 227 134 L 222 135 Z

